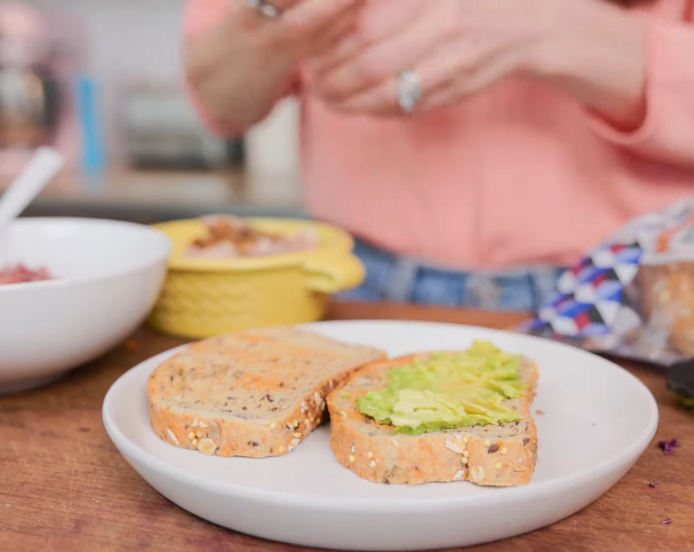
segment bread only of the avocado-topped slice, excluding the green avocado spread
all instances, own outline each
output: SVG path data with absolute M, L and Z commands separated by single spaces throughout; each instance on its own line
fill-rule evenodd
M 357 400 L 389 385 L 392 368 L 430 353 L 371 362 L 328 396 L 330 446 L 337 460 L 357 476 L 375 483 L 418 485 L 466 480 L 509 487 L 530 483 L 537 458 L 537 431 L 530 412 L 538 370 L 523 359 L 527 391 L 503 404 L 523 415 L 512 424 L 475 426 L 406 435 L 359 412 Z

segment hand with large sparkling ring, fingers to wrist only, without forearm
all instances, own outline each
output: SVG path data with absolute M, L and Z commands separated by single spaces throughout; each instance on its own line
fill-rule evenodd
M 364 19 L 359 33 L 314 60 L 315 91 L 333 106 L 397 113 L 397 76 L 412 70 L 427 110 L 528 69 L 548 33 L 545 4 L 559 0 L 403 0 L 393 18 Z

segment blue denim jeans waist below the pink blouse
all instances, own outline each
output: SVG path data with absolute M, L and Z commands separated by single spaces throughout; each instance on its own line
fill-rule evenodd
M 366 265 L 366 281 L 337 299 L 535 311 L 554 292 L 564 271 L 551 266 L 498 273 L 454 271 L 399 257 L 358 240 L 355 254 Z

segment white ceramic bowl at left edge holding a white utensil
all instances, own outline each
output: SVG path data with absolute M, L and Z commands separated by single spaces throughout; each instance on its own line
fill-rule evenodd
M 0 394 L 93 360 L 142 324 L 160 293 L 171 245 L 126 222 L 37 218 L 10 228 L 10 265 L 55 279 L 0 285 Z

